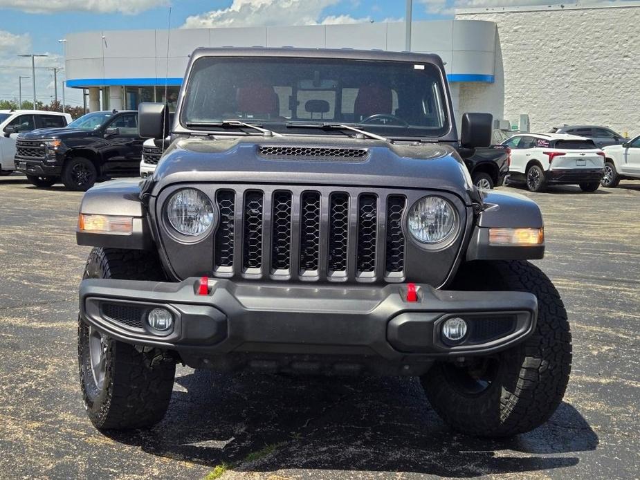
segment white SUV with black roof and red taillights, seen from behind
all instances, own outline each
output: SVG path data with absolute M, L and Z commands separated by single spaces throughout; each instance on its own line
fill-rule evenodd
M 531 192 L 547 185 L 580 185 L 595 192 L 603 175 L 604 152 L 593 140 L 567 133 L 522 133 L 502 145 L 511 149 L 509 182 L 524 182 Z

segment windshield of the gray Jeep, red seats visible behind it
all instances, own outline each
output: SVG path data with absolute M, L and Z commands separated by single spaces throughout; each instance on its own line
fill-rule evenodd
M 384 136 L 442 136 L 449 120 L 432 64 L 305 58 L 203 57 L 194 63 L 183 124 L 221 120 L 360 125 Z

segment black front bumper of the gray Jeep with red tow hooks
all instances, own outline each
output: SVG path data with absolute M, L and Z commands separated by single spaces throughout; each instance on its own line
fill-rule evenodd
M 536 324 L 537 299 L 524 292 L 457 292 L 417 286 L 293 286 L 199 279 L 158 283 L 86 279 L 80 286 L 82 317 L 113 338 L 178 351 L 183 361 L 235 353 L 379 358 L 399 367 L 433 358 L 482 355 L 521 342 Z M 172 311 L 174 329 L 152 333 L 146 314 Z M 466 338 L 447 343 L 441 324 L 462 317 Z M 206 363 L 206 361 L 205 361 Z M 411 367 L 413 368 L 413 367 Z

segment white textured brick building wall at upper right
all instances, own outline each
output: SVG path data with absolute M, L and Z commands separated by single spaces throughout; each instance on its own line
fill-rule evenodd
M 531 131 L 567 123 L 640 133 L 640 3 L 478 8 L 456 19 L 497 24 L 495 83 L 462 84 L 461 111 L 528 113 Z

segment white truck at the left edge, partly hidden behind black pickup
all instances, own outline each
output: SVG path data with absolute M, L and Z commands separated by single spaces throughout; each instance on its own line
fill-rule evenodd
M 71 115 L 43 110 L 0 110 L 0 175 L 15 169 L 15 142 L 18 133 L 35 129 L 65 127 Z

